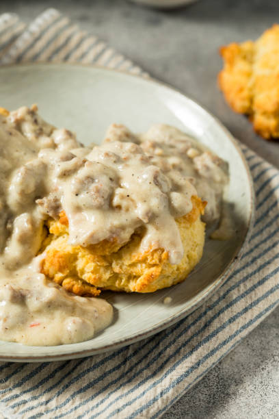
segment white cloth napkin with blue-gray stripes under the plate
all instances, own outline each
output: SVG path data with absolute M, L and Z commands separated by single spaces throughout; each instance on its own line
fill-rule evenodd
M 94 63 L 145 75 L 56 10 L 28 27 L 0 16 L 0 62 Z M 118 351 L 72 361 L 1 363 L 5 418 L 158 418 L 226 356 L 279 301 L 279 171 L 247 147 L 256 220 L 238 268 L 173 327 Z

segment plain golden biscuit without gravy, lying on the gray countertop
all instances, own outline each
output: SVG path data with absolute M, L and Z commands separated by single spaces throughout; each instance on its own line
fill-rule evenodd
M 279 138 L 279 25 L 256 42 L 222 47 L 220 54 L 218 82 L 229 105 L 247 114 L 263 138 Z

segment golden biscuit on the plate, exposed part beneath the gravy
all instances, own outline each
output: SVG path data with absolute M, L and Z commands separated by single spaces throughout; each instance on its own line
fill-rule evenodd
M 124 246 L 109 242 L 98 245 L 71 246 L 65 214 L 49 223 L 49 237 L 44 242 L 41 272 L 67 290 L 79 295 L 98 295 L 101 290 L 154 292 L 183 281 L 202 257 L 204 223 L 200 214 L 206 203 L 192 197 L 193 209 L 176 220 L 184 246 L 178 265 L 168 262 L 164 249 L 139 253 L 142 240 L 133 234 Z

